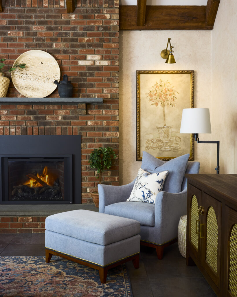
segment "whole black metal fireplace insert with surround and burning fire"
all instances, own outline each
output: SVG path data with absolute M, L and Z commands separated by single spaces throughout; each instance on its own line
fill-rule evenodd
M 1 135 L 0 204 L 81 203 L 81 135 Z

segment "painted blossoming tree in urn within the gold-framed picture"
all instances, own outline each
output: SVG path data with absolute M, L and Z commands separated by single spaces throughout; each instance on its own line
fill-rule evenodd
M 151 105 L 158 107 L 161 106 L 163 108 L 163 123 L 164 126 L 156 127 L 159 132 L 160 140 L 164 143 L 163 146 L 160 147 L 161 151 L 170 151 L 172 148 L 169 146 L 169 141 L 172 133 L 172 126 L 166 126 L 165 119 L 165 107 L 175 107 L 175 100 L 177 99 L 176 94 L 179 94 L 174 86 L 169 82 L 169 80 L 159 80 L 156 82 L 148 91 L 147 97 L 148 102 L 151 102 Z

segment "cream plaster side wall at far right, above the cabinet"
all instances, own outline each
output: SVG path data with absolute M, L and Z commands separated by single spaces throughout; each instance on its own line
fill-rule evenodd
M 220 173 L 237 173 L 236 11 L 237 1 L 220 1 L 212 30 L 211 125 L 212 140 L 220 140 Z

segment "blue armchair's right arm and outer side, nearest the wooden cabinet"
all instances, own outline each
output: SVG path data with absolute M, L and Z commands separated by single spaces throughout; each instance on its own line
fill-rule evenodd
M 155 203 L 155 227 L 158 242 L 177 237 L 180 217 L 187 213 L 187 188 L 180 193 L 159 192 Z

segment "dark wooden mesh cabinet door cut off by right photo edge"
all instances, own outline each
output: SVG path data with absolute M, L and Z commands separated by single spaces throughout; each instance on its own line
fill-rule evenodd
M 237 297 L 237 211 L 225 206 L 224 296 Z

